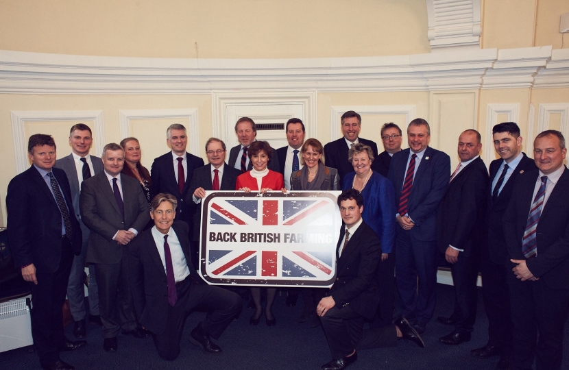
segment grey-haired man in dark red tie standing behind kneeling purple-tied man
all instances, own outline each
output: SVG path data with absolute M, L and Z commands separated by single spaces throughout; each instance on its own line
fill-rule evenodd
M 193 224 L 195 213 L 195 203 L 192 200 L 192 193 L 189 191 L 193 171 L 204 165 L 204 160 L 186 151 L 188 136 L 186 127 L 175 123 L 166 130 L 166 142 L 171 147 L 171 151 L 160 156 L 152 163 L 150 177 L 152 177 L 153 198 L 158 193 L 169 193 L 178 200 L 176 214 L 178 220 Z M 190 227 L 190 240 L 194 240 L 193 227 Z M 199 230 L 199 229 L 198 229 Z M 191 253 L 194 261 L 197 261 L 198 245 L 191 243 Z

